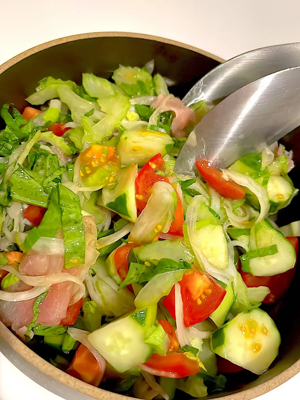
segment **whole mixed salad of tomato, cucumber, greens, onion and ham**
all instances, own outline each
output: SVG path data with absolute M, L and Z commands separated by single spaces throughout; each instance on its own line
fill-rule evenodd
M 275 221 L 298 190 L 277 143 L 176 174 L 211 107 L 184 106 L 152 72 L 120 66 L 82 86 L 50 76 L 22 114 L 2 107 L 0 319 L 89 384 L 202 397 L 278 354 L 260 306 L 294 276 L 299 232 Z

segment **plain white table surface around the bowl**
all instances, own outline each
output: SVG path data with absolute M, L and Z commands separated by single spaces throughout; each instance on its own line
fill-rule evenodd
M 0 64 L 52 39 L 99 31 L 163 36 L 228 59 L 300 42 L 299 15 L 299 0 L 0 0 Z M 298 399 L 299 384 L 300 374 L 258 399 Z M 0 400 L 32 397 L 60 399 L 0 354 Z

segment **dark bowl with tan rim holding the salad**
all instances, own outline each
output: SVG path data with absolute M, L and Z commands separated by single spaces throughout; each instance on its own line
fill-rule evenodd
M 80 83 L 82 72 L 108 78 L 119 64 L 141 67 L 152 59 L 155 60 L 155 71 L 174 80 L 171 91 L 180 97 L 201 76 L 223 61 L 192 46 L 143 34 L 98 32 L 68 36 L 27 50 L 0 66 L 0 104 L 14 103 L 22 110 L 26 106 L 24 99 L 34 92 L 38 81 L 45 76 Z M 291 177 L 299 187 L 300 146 L 293 133 L 286 137 L 285 142 L 293 147 L 296 156 L 296 168 Z M 280 218 L 289 223 L 299 219 L 296 214 L 299 214 L 297 203 L 292 202 Z M 208 396 L 208 399 L 249 400 L 276 388 L 300 371 L 300 312 L 296 306 L 295 283 L 298 275 L 299 271 L 280 304 L 267 310 L 282 336 L 279 356 L 271 368 L 259 377 L 246 371 L 231 379 L 228 376 L 228 391 Z M 62 398 L 128 399 L 90 386 L 52 366 L 14 336 L 2 322 L 0 336 L 0 351 L 24 374 Z

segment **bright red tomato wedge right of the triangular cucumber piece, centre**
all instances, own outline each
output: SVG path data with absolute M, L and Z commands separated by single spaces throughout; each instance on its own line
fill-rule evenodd
M 162 175 L 158 175 L 155 172 L 164 170 L 164 159 L 160 153 L 156 154 L 156 156 L 152 157 L 140 170 L 138 176 L 135 180 L 136 187 L 136 207 L 138 209 L 138 213 L 140 214 L 146 204 L 148 202 L 148 198 L 150 197 L 150 189 L 154 185 L 155 182 L 164 181 L 168 182 L 168 178 Z

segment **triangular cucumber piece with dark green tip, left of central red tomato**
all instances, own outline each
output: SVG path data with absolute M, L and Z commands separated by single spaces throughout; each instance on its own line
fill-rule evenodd
M 128 221 L 137 219 L 134 181 L 138 176 L 138 166 L 131 164 L 121 168 L 118 184 L 114 189 L 102 189 L 104 207 L 118 213 Z

